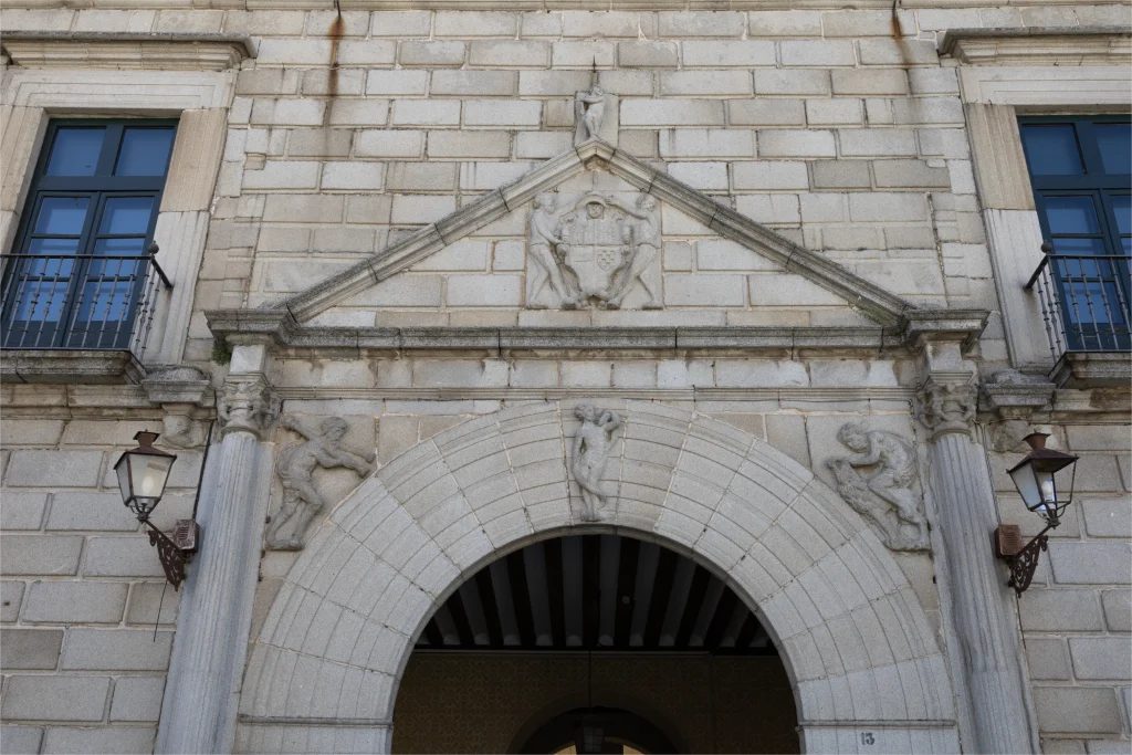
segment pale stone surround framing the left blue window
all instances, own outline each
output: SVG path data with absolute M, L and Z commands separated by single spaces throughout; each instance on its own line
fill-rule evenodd
M 9 68 L 0 91 L 0 242 L 11 249 L 35 161 L 52 118 L 179 118 L 154 231 L 173 289 L 158 302 L 145 364 L 178 363 L 185 350 L 223 157 L 235 71 Z M 82 370 L 79 370 L 82 371 Z

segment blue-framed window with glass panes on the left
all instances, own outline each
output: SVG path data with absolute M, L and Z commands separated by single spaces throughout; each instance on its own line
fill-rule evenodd
M 52 120 L 11 254 L 0 348 L 130 349 L 175 120 Z

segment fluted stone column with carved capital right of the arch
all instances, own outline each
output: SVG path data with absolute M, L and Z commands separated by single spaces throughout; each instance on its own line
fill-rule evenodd
M 977 393 L 967 381 L 928 378 L 920 420 L 932 431 L 931 484 L 946 552 L 952 617 L 962 651 L 980 755 L 1036 754 L 1019 630 L 990 533 L 994 486 L 971 436 Z M 964 378 L 967 376 L 963 376 Z

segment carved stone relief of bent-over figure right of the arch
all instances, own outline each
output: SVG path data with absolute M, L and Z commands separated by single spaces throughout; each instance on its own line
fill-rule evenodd
M 843 424 L 838 440 L 854 452 L 826 462 L 846 503 L 881 531 L 891 550 L 927 550 L 927 522 L 914 487 L 916 455 L 908 441 L 857 422 Z

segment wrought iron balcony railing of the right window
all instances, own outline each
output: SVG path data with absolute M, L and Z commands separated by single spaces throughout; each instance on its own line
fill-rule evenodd
M 1132 351 L 1132 257 L 1055 255 L 1047 243 L 1037 289 L 1054 360 L 1066 352 Z

